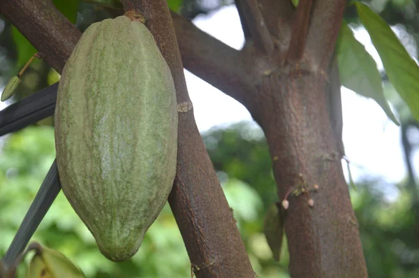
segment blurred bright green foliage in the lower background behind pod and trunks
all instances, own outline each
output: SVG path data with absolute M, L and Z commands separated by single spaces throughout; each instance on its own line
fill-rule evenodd
M 237 219 L 237 227 L 261 277 L 289 277 L 286 240 L 281 262 L 272 258 L 263 235 L 267 207 L 277 200 L 263 132 L 240 123 L 203 133 L 214 168 Z M 0 257 L 4 255 L 54 160 L 54 130 L 31 126 L 0 138 Z M 388 201 L 379 181 L 351 191 L 360 222 L 369 277 L 419 277 L 418 238 L 411 197 L 403 184 Z M 60 193 L 32 240 L 57 249 L 87 277 L 189 277 L 190 263 L 170 207 L 147 231 L 138 254 L 124 263 L 108 261 L 82 221 Z M 22 273 L 20 273 L 22 277 Z

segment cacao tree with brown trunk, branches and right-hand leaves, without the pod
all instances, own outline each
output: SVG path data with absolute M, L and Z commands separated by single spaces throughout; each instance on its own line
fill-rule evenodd
M 168 202 L 194 274 L 256 276 L 196 128 L 183 68 L 240 101 L 263 129 L 279 200 L 283 200 L 277 205 L 279 230 L 284 228 L 288 240 L 291 276 L 367 277 L 358 222 L 341 168 L 341 84 L 374 98 L 390 119 L 395 123 L 397 119 L 383 95 L 374 61 L 342 20 L 346 1 L 237 0 L 246 38 L 240 51 L 170 13 L 166 1 L 107 3 L 111 3 L 107 8 L 112 17 L 130 11 L 144 15 L 170 67 L 177 103 L 184 103 L 179 111 L 177 174 Z M 418 66 L 381 17 L 365 4 L 354 5 L 388 78 L 418 119 Z M 57 8 L 49 0 L 0 3 L 1 13 L 36 48 L 39 57 L 61 73 L 81 32 Z M 341 66 L 351 58 L 355 68 Z M 367 87 L 362 86 L 365 84 Z M 2 114 L 1 134 L 52 115 L 56 94 L 57 85 L 52 85 L 20 105 L 10 105 Z M 30 105 L 34 107 L 29 109 Z M 41 205 L 29 210 L 24 220 L 27 227 L 22 225 L 17 232 L 3 259 L 6 264 L 22 251 L 58 192 L 53 163 L 36 196 Z M 282 232 L 277 237 L 281 242 Z

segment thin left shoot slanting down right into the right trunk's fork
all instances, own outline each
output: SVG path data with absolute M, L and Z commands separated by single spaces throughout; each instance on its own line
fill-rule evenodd
M 244 16 L 246 27 L 249 28 L 251 38 L 256 48 L 266 55 L 272 54 L 274 42 L 270 36 L 269 30 L 263 20 L 263 15 L 258 7 L 256 0 L 239 0 L 240 10 Z M 242 20 L 242 19 L 241 19 Z

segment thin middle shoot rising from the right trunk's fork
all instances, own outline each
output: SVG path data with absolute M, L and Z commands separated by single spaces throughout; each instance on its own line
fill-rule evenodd
M 301 0 L 298 4 L 287 52 L 287 60 L 289 62 L 298 61 L 302 58 L 307 39 L 307 30 L 309 29 L 312 3 L 313 0 Z

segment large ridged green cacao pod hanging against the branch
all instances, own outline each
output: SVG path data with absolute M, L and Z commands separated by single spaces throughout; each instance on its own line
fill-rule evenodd
M 126 16 L 84 31 L 54 115 L 62 190 L 112 261 L 133 256 L 175 178 L 177 101 L 152 34 Z

